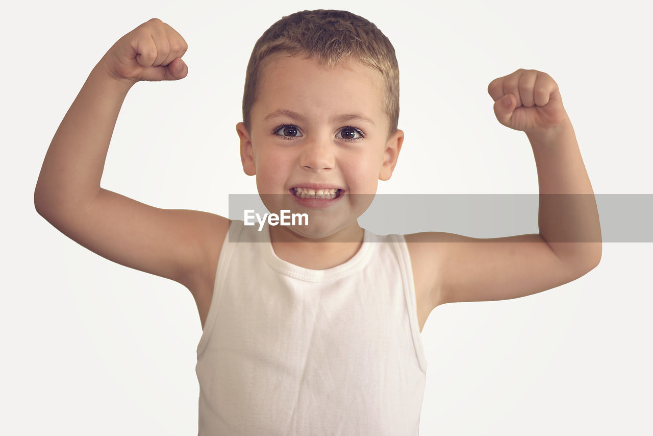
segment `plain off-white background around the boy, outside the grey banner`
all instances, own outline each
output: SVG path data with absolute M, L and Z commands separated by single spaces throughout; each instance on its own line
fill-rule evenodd
M 314 8 L 365 16 L 396 49 L 406 141 L 379 193 L 536 193 L 526 135 L 496 121 L 486 92 L 518 68 L 558 83 L 595 193 L 652 193 L 645 2 L 425 4 L 5 6 L 0 433 L 197 434 L 201 327 L 191 294 L 89 252 L 33 205 L 48 145 L 91 69 L 150 18 L 188 42 L 189 74 L 132 88 L 101 183 L 143 203 L 226 216 L 228 193 L 256 192 L 234 127 L 247 60 L 272 23 Z M 606 243 L 601 264 L 564 286 L 434 310 L 422 333 L 421 434 L 651 434 L 651 246 Z

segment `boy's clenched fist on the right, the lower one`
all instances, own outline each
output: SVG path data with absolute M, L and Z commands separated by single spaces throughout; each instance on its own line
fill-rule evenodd
M 547 73 L 518 69 L 488 85 L 494 114 L 503 126 L 528 133 L 545 133 L 568 119 L 558 84 Z

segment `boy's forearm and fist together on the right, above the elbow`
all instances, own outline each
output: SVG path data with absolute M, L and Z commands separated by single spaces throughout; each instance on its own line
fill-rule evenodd
M 524 131 L 533 149 L 539 235 L 568 267 L 596 266 L 601 258 L 596 199 L 558 84 L 547 73 L 519 69 L 492 80 L 488 93 L 497 120 Z

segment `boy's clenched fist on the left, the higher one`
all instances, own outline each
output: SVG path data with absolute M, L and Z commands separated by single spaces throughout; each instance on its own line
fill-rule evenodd
M 128 82 L 179 80 L 188 74 L 182 61 L 188 44 L 175 29 L 152 18 L 127 33 L 101 60 L 107 73 Z

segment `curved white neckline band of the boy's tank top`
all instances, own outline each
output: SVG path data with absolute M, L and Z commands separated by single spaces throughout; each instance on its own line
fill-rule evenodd
M 328 269 L 310 269 L 285 261 L 276 255 L 270 240 L 270 225 L 267 222 L 264 224 L 262 231 L 257 233 L 261 235 L 261 244 L 258 245 L 261 247 L 263 258 L 272 269 L 283 275 L 307 282 L 327 282 L 356 273 L 369 258 L 372 251 L 370 246 L 374 237 L 370 231 L 363 229 L 362 244 L 360 244 L 360 248 L 351 259 Z

